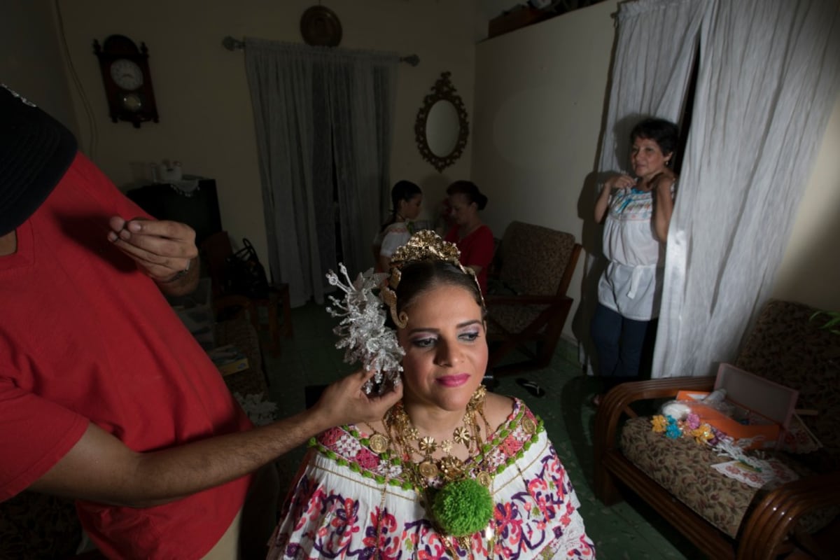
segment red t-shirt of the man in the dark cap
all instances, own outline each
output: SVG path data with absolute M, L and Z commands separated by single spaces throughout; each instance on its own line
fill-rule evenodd
M 0 257 L 0 500 L 39 479 L 88 421 L 137 452 L 251 425 L 155 283 L 108 242 L 108 217 L 143 216 L 78 154 Z M 108 557 L 200 558 L 249 477 L 150 508 L 77 501 Z

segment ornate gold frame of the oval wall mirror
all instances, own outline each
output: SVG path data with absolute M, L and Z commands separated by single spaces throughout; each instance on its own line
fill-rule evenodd
M 438 173 L 443 172 L 444 169 L 453 165 L 461 154 L 464 153 L 464 148 L 467 145 L 467 139 L 470 136 L 470 123 L 467 118 L 467 110 L 464 107 L 464 102 L 456 93 L 455 86 L 449 81 L 450 72 L 442 72 L 438 81 L 432 87 L 432 93 L 429 93 L 423 98 L 423 107 L 417 111 L 417 121 L 414 123 L 414 139 L 417 142 L 417 149 L 420 150 L 420 155 L 423 160 L 428 161 L 432 166 L 438 170 Z M 432 148 L 429 147 L 429 113 L 432 113 L 432 108 L 438 102 L 449 102 L 454 107 L 454 112 L 458 118 L 458 130 L 453 131 L 457 136 L 454 140 L 454 147 L 445 154 L 436 154 Z M 445 106 L 445 103 L 442 104 Z M 443 107 L 444 109 L 447 107 Z M 441 113 L 438 111 L 438 113 Z

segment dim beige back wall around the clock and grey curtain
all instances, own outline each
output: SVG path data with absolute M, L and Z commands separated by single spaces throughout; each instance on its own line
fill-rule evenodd
M 222 46 L 225 35 L 302 42 L 299 23 L 312 0 L 60 0 L 70 58 L 84 96 L 85 114 L 74 92 L 86 147 L 95 138 L 93 159 L 118 186 L 148 181 L 148 164 L 180 160 L 184 172 L 217 181 L 223 226 L 234 238 L 250 238 L 267 262 L 260 175 L 244 54 Z M 474 0 L 332 0 L 343 28 L 342 47 L 416 54 L 420 65 L 400 65 L 391 182 L 407 178 L 421 184 L 428 200 L 442 196 L 444 184 L 469 175 L 472 144 L 457 165 L 438 174 L 414 144 L 414 118 L 423 97 L 442 71 L 472 112 Z M 134 7 L 134 8 L 133 8 Z M 149 48 L 159 124 L 135 129 L 111 123 L 93 39 L 124 34 Z

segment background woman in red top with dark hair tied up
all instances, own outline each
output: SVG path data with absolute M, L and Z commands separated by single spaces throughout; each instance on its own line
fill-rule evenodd
M 449 207 L 455 225 L 444 238 L 455 243 L 461 252 L 461 264 L 469 267 L 478 277 L 481 293 L 487 293 L 487 270 L 493 262 L 496 244 L 493 232 L 478 215 L 487 206 L 487 197 L 481 194 L 472 181 L 455 181 L 446 189 Z

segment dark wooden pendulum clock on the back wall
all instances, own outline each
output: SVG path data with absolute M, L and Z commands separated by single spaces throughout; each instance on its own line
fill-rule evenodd
M 111 35 L 99 46 L 93 39 L 93 52 L 99 59 L 108 112 L 111 120 L 127 121 L 140 128 L 140 123 L 158 122 L 155 92 L 149 71 L 149 50 L 140 48 L 124 35 Z

